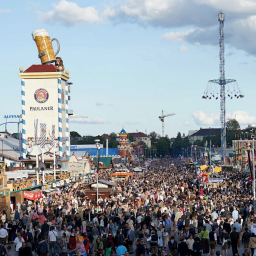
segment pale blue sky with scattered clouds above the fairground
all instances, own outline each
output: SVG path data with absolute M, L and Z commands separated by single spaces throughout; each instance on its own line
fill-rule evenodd
M 1 1 L 1 123 L 21 113 L 19 68 L 40 64 L 31 33 L 45 28 L 73 82 L 71 131 L 161 134 L 162 110 L 175 113 L 165 119 L 169 137 L 220 127 L 219 99 L 202 99 L 208 80 L 219 78 L 220 10 L 226 78 L 245 96 L 227 97 L 227 119 L 256 124 L 254 0 Z

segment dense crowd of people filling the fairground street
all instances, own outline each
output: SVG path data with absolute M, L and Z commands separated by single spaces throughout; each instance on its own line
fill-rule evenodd
M 110 181 L 110 173 L 99 175 Z M 251 181 L 243 172 L 221 175 L 205 184 L 181 160 L 157 159 L 98 202 L 81 184 L 17 204 L 13 218 L 0 217 L 0 256 L 240 256 L 240 246 L 254 256 Z

